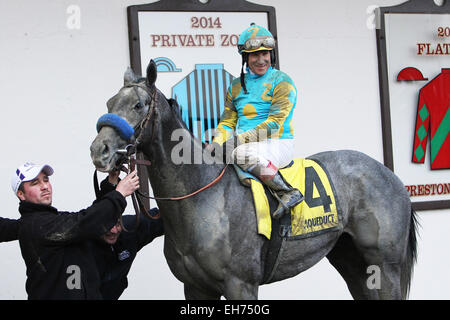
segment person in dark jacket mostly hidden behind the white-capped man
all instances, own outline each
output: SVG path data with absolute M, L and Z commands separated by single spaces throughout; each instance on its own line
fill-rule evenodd
M 109 194 L 119 183 L 118 172 L 112 172 L 100 184 L 100 197 Z M 159 214 L 158 208 L 150 210 L 150 215 Z M 128 287 L 127 275 L 136 254 L 156 237 L 164 234 L 162 219 L 152 219 L 142 215 L 139 224 L 136 216 L 126 215 L 107 233 L 92 242 L 98 272 L 101 278 L 100 291 L 105 300 L 117 300 Z

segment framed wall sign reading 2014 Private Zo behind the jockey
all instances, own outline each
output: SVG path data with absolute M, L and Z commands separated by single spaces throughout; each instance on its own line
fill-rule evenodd
M 239 34 L 254 22 L 275 39 L 275 9 L 244 0 L 162 0 L 128 7 L 131 65 L 158 66 L 158 88 L 177 100 L 194 136 L 211 141 L 226 90 L 241 70 Z M 278 56 L 278 55 L 277 55 Z

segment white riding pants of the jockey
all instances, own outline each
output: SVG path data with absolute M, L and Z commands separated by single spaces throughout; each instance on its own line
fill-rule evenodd
M 277 168 L 283 168 L 294 158 L 294 139 L 244 143 L 234 149 L 231 155 L 233 162 L 245 171 L 254 165 L 265 168 L 269 161 Z

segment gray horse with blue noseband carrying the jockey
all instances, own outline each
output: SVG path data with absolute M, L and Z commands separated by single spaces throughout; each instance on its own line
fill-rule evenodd
M 120 134 L 123 123 L 98 127 L 91 158 L 98 170 L 108 172 L 121 162 L 116 151 L 135 143 L 151 161 L 148 175 L 155 197 L 186 195 L 214 180 L 224 165 L 172 161 L 180 139 L 189 142 L 191 154 L 204 153 L 204 145 L 187 130 L 174 141 L 174 130 L 186 126 L 176 103 L 156 88 L 156 75 L 153 61 L 146 78 L 127 70 L 124 87 L 107 106 L 109 115 L 134 128 L 134 135 Z M 212 162 L 203 156 L 205 162 Z M 309 158 L 325 167 L 334 184 L 342 211 L 339 227 L 283 241 L 268 282 L 264 280 L 272 258 L 268 240 L 256 232 L 251 190 L 241 185 L 231 167 L 217 184 L 195 196 L 157 200 L 165 226 L 164 255 L 175 277 L 184 283 L 186 299 L 257 299 L 260 285 L 293 277 L 324 257 L 342 275 L 355 299 L 407 297 L 416 260 L 416 217 L 402 182 L 360 152 L 330 151 Z M 269 202 L 276 207 L 275 200 Z M 370 266 L 380 271 L 378 286 L 369 285 Z

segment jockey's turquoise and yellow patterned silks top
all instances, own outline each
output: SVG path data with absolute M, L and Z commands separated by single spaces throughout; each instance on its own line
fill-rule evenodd
M 242 143 L 271 138 L 292 139 L 297 89 L 291 78 L 270 67 L 262 76 L 246 73 L 245 80 L 248 94 L 244 94 L 240 78 L 233 80 L 228 88 L 224 112 L 213 141 L 222 145 L 232 136 L 233 130 Z

